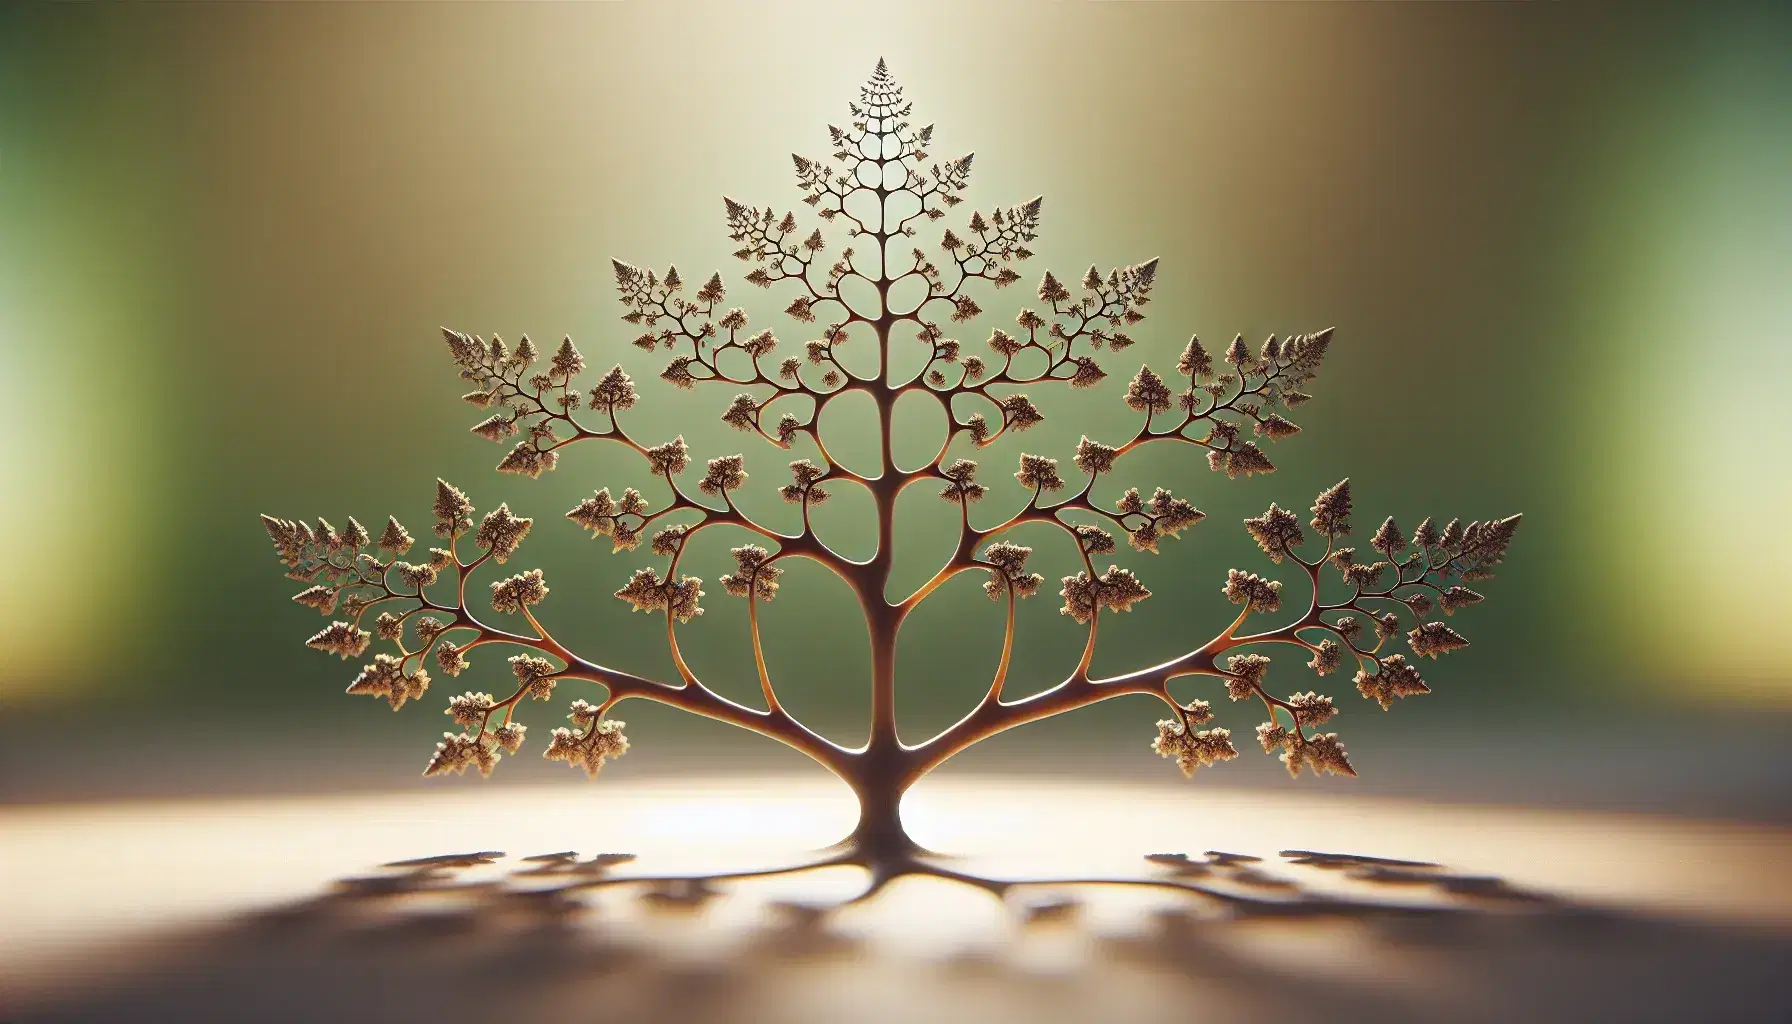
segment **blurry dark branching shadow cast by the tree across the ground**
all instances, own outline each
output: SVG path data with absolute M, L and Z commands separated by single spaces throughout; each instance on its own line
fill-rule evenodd
M 878 927 L 849 920 L 905 900 L 901 889 L 719 915 L 762 879 L 656 877 L 633 861 L 478 852 L 385 864 L 159 936 L 125 956 L 134 967 L 45 995 L 18 1020 L 1792 1017 L 1785 931 L 1582 906 L 1414 861 L 1159 854 L 1134 879 L 1025 881 L 943 868 L 937 879 L 1000 900 L 1005 924 L 995 942 L 939 956 L 891 952 Z M 792 870 L 760 875 L 781 873 Z M 1115 889 L 1159 902 L 1136 927 L 1084 913 L 1086 893 Z M 1041 961 L 1041 945 L 1059 956 Z

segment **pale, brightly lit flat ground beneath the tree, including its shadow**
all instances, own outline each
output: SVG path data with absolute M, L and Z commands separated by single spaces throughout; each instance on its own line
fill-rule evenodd
M 615 882 L 801 861 L 851 821 L 812 777 L 11 807 L 0 1019 L 1792 1015 L 1792 829 L 977 777 L 905 814 L 953 872 L 1190 891 Z

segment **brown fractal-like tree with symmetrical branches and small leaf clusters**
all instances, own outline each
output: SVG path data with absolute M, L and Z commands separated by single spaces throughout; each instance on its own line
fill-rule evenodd
M 1269 658 L 1238 649 L 1297 647 L 1310 656 L 1306 667 L 1319 676 L 1353 667 L 1362 696 L 1389 708 L 1396 699 L 1428 692 L 1414 664 L 1387 651 L 1396 637 L 1405 633 L 1416 656 L 1435 658 L 1466 646 L 1455 629 L 1426 619 L 1434 608 L 1448 615 L 1482 599 L 1453 581 L 1491 576 L 1512 540 L 1518 516 L 1468 525 L 1452 520 L 1443 529 L 1425 520 L 1410 538 L 1389 518 L 1369 540 L 1378 558 L 1358 561 L 1355 547 L 1340 545 L 1351 533 L 1351 493 L 1349 481 L 1344 481 L 1317 497 L 1305 525 L 1301 516 L 1276 504 L 1262 516 L 1245 520 L 1245 529 L 1272 563 L 1288 563 L 1296 576 L 1305 577 L 1301 583 L 1310 597 L 1290 610 L 1287 622 L 1244 631 L 1253 615 L 1283 610 L 1283 585 L 1235 568 L 1228 574 L 1224 594 L 1240 612 L 1211 640 L 1159 665 L 1093 678 L 1090 665 L 1102 617 L 1127 612 L 1150 597 L 1133 572 L 1097 561 L 1115 551 L 1115 533 L 1124 533 L 1134 549 L 1156 552 L 1165 538 L 1176 538 L 1202 518 L 1188 500 L 1161 488 L 1150 497 L 1129 490 L 1109 511 L 1090 499 L 1097 477 L 1111 472 L 1127 452 L 1154 441 L 1193 445 L 1206 452 L 1211 470 L 1228 477 L 1274 470 L 1251 438 L 1278 441 L 1299 430 L 1283 412 L 1310 398 L 1303 389 L 1321 368 L 1331 330 L 1287 339 L 1272 335 L 1254 351 L 1235 337 L 1217 353 L 1219 360 L 1199 339 L 1190 339 L 1176 364 L 1176 375 L 1185 382 L 1172 387 L 1149 366 L 1133 377 L 1125 404 L 1142 414 L 1142 421 L 1131 436 L 1115 443 L 1082 438 L 1072 456 L 1075 473 L 1063 473 L 1057 459 L 1021 454 L 1014 477 L 1027 491 L 1025 506 L 1002 522 L 973 525 L 969 506 L 989 491 L 978 479 L 978 464 L 957 457 L 953 445 L 962 439 L 961 448 L 982 448 L 1039 423 L 1041 412 L 1025 393 L 1012 391 L 1014 386 L 1088 387 L 1102 380 L 1106 371 L 1098 359 L 1133 344 L 1125 330 L 1143 319 L 1140 310 L 1149 301 L 1158 262 L 1120 267 L 1106 276 L 1091 267 L 1077 291 L 1047 271 L 1038 287 L 1039 305 L 1020 310 L 1016 326 L 989 334 L 993 355 L 966 353 L 948 332 L 952 325 L 982 314 L 971 289 L 1002 289 L 1020 280 L 1014 267 L 1032 255 L 1027 244 L 1036 237 L 1041 201 L 987 215 L 971 213 L 964 226 L 943 231 L 932 256 L 912 247 L 909 239 L 918 224 L 939 221 L 962 201 L 971 156 L 926 163 L 934 129 L 912 127 L 909 113 L 910 104 L 878 61 L 869 84 L 860 90 L 860 100 L 851 104 L 849 127 L 828 129 L 837 147 L 831 165 L 794 156 L 803 201 L 857 240 L 831 262 L 823 255 L 830 242 L 821 230 L 805 231 L 790 213 L 780 217 L 771 208 L 724 201 L 729 237 L 740 244 L 735 255 L 753 264 L 745 280 L 762 289 L 792 289 L 796 298 L 783 312 L 799 323 L 823 323 L 819 337 L 801 346 L 801 357 L 772 355 L 781 339 L 772 330 L 751 330 L 744 310 L 724 305 L 726 287 L 719 273 L 686 298 L 677 269 L 658 274 L 615 262 L 616 285 L 627 307 L 624 319 L 642 332 L 634 344 L 674 353 L 663 380 L 676 387 L 710 382 L 747 387 L 733 398 L 722 420 L 776 448 L 803 447 L 810 452 L 810 457 L 788 464 L 790 482 L 781 488 L 783 499 L 801 509 L 799 533 L 774 531 L 737 506 L 731 495 L 747 475 L 744 456 L 710 459 L 694 495 L 685 482 L 692 456 L 683 436 L 649 445 L 625 427 L 638 393 L 622 366 L 611 368 L 586 393 L 573 386 L 584 369 L 584 357 L 572 339 L 559 344 L 547 366 L 539 366 L 541 353 L 527 337 L 507 348 L 498 337 L 486 341 L 443 332 L 461 377 L 473 386 L 464 398 L 493 411 L 473 432 L 491 441 L 520 438 L 498 463 L 500 472 L 539 477 L 554 470 L 566 445 L 606 439 L 636 450 L 663 479 L 668 497 L 650 504 L 633 488 L 620 497 L 600 490 L 566 518 L 607 536 L 615 551 L 634 551 L 663 516 L 695 516 L 695 522 L 652 533 L 649 547 L 665 560 L 665 568 L 640 568 L 616 590 L 616 597 L 636 610 L 665 617 L 677 680 L 649 680 L 604 667 L 556 640 L 532 612 L 548 594 L 541 570 L 489 585 L 491 608 L 520 617 L 527 629 L 495 626 L 475 612 L 477 603 L 468 597 L 471 576 L 487 561 L 509 561 L 534 525 L 505 504 L 475 522 L 473 502 L 459 488 L 439 481 L 434 533 L 444 547 L 432 547 L 428 558 L 416 563 L 401 561 L 412 549 L 412 536 L 396 518 L 389 518 L 380 536 L 373 538 L 353 518 L 337 529 L 324 520 L 308 525 L 263 516 L 281 561 L 290 568 L 289 576 L 310 585 L 294 599 L 324 615 L 342 615 L 306 640 L 310 647 L 357 658 L 375 635 L 396 647 L 396 653 L 375 655 L 348 692 L 383 698 L 400 708 L 428 689 L 428 658 L 434 658 L 435 671 L 459 676 L 477 647 L 521 649 L 509 658 L 514 674 L 509 696 L 466 692 L 448 701 L 448 714 L 462 732 L 444 735 L 426 775 L 470 766 L 491 773 L 504 753 L 516 753 L 523 744 L 525 726 L 516 721 L 521 701 L 550 699 L 561 681 L 597 683 L 602 701 L 572 703 L 572 728 L 554 730 L 545 750 L 548 759 L 595 777 L 604 760 L 627 750 L 622 723 L 607 716 L 618 703 L 634 698 L 737 725 L 810 755 L 851 785 L 860 821 L 842 843 L 840 857 L 830 863 L 851 861 L 887 875 L 910 870 L 919 855 L 901 827 L 903 793 L 955 753 L 998 732 L 1125 694 L 1150 694 L 1170 708 L 1168 717 L 1158 723 L 1152 750 L 1176 759 L 1185 773 L 1193 775 L 1238 751 L 1229 730 L 1208 728 L 1213 719 L 1208 701 L 1179 703 L 1167 687 L 1179 676 L 1211 676 L 1233 701 L 1262 703 L 1267 721 L 1256 726 L 1256 739 L 1267 753 L 1279 753 L 1292 775 L 1301 769 L 1355 775 L 1339 737 L 1319 732 L 1337 714 L 1331 698 L 1310 690 L 1274 696 L 1267 681 Z M 912 253 L 903 253 L 905 247 Z M 862 298 L 846 294 L 851 289 L 860 289 Z M 916 303 L 892 299 L 892 292 L 901 291 L 912 291 Z M 891 351 L 909 337 L 921 346 L 926 360 L 916 377 L 898 380 Z M 876 346 L 874 373 L 855 373 L 837 359 L 839 350 L 851 343 Z M 869 396 L 876 409 L 880 461 L 869 475 L 831 457 L 817 429 L 821 412 L 849 393 Z M 900 470 L 891 456 L 892 411 L 898 398 L 909 393 L 930 395 L 948 423 L 939 452 L 912 472 Z M 801 396 L 787 404 L 794 411 L 781 412 L 774 421 L 772 407 L 794 396 Z M 982 411 L 971 412 L 969 405 L 982 405 Z M 808 411 L 806 418 L 801 409 Z M 1066 477 L 1081 481 L 1072 484 Z M 885 586 L 892 568 L 896 499 L 910 484 L 935 486 L 941 499 L 959 506 L 957 542 L 950 560 L 898 601 L 887 595 Z M 830 549 L 810 525 L 810 509 L 840 486 L 864 488 L 876 509 L 876 552 L 862 561 Z M 1063 491 L 1070 497 L 1061 497 Z M 1104 525 L 1077 524 L 1066 520 L 1066 513 L 1097 518 Z M 1063 577 L 1057 594 L 1064 599 L 1063 613 L 1088 629 L 1088 642 L 1061 683 L 1023 699 L 1005 699 L 1014 651 L 1014 604 L 1038 594 L 1045 579 L 1027 568 L 1032 549 L 1000 536 L 1030 522 L 1063 529 L 1081 558 L 1081 572 Z M 717 525 L 751 531 L 763 542 L 733 549 L 737 568 L 720 579 L 728 595 L 745 603 L 763 708 L 717 694 L 679 653 L 677 628 L 702 615 L 706 597 L 701 579 L 679 574 L 679 558 L 697 533 Z M 477 554 L 464 551 L 466 540 Z M 857 594 L 864 608 L 871 640 L 873 714 L 862 748 L 849 750 L 824 739 L 778 701 L 760 644 L 758 606 L 778 597 L 780 563 L 788 558 L 821 563 Z M 1342 577 L 1348 599 L 1321 601 L 1321 572 L 1328 567 Z M 987 574 L 986 592 L 1005 604 L 1002 656 L 987 689 L 962 719 L 926 742 L 909 746 L 896 732 L 896 637 L 916 606 L 961 572 Z M 376 613 L 371 633 L 364 629 L 369 613 Z M 1410 629 L 1401 617 L 1412 624 Z

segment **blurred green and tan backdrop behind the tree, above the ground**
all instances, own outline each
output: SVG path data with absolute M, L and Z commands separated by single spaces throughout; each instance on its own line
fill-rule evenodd
M 1371 524 L 1527 515 L 1489 601 L 1453 620 L 1475 647 L 1430 673 L 1439 696 L 1401 708 L 1412 721 L 1788 703 L 1785 7 L 16 5 L 0 11 L 4 714 L 65 750 L 106 728 L 314 753 L 401 733 L 421 764 L 443 694 L 407 716 L 344 699 L 353 667 L 299 646 L 319 620 L 287 601 L 256 513 L 396 513 L 421 534 L 437 475 L 538 518 L 518 565 L 547 568 L 563 638 L 668 673 L 659 629 L 607 597 L 656 560 L 559 518 L 643 482 L 638 459 L 586 445 L 541 481 L 495 473 L 435 328 L 570 334 L 595 369 L 620 360 L 643 380 L 636 434 L 745 450 L 747 508 L 785 522 L 771 488 L 792 456 L 724 427 L 726 389 L 656 380 L 663 355 L 627 346 L 607 260 L 720 267 L 756 323 L 806 337 L 772 316 L 788 296 L 738 283 L 720 195 L 806 213 L 787 154 L 828 152 L 878 56 L 941 156 L 978 154 L 957 221 L 1047 197 L 1025 283 L 966 343 L 1045 267 L 1163 260 L 1142 344 L 1095 391 L 1034 389 L 1048 420 L 1027 450 L 1068 459 L 1082 432 L 1131 430 L 1125 378 L 1167 369 L 1192 332 L 1337 326 L 1278 473 L 1226 481 L 1159 445 L 1111 477 L 1210 518 L 1158 558 L 1116 556 L 1156 597 L 1104 626 L 1100 671 L 1211 635 L 1224 570 L 1267 568 L 1236 522 L 1349 475 Z M 914 420 L 914 438 L 937 429 Z M 984 518 L 1020 500 L 1002 484 L 1020 447 L 982 459 Z M 948 511 L 921 490 L 903 511 L 919 581 Z M 864 554 L 848 520 L 835 536 Z M 1036 540 L 1048 577 L 1070 570 Z M 701 674 L 749 696 L 744 608 L 713 583 L 729 543 L 717 531 L 686 560 L 711 585 L 683 637 Z M 986 685 L 998 612 L 962 577 L 910 620 L 910 739 Z M 1054 597 L 1029 603 L 1014 678 L 1055 681 L 1077 633 Z M 844 586 L 794 568 L 767 644 L 794 710 L 862 735 Z M 473 662 L 455 690 L 504 683 L 500 655 Z M 1380 725 L 1349 703 L 1346 735 Z M 1156 712 L 1115 705 L 1039 728 L 1131 753 Z M 625 717 L 650 725 L 638 746 L 720 730 Z

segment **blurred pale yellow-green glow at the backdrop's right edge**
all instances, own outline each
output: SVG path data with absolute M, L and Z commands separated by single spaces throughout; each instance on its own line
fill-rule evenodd
M 1744 102 L 1792 81 L 1763 39 L 1713 52 L 1727 59 L 1674 99 L 1677 118 L 1627 147 L 1615 230 L 1638 224 L 1643 251 L 1625 255 L 1631 292 L 1607 296 L 1629 312 L 1590 382 L 1620 396 L 1600 430 L 1624 499 L 1606 509 L 1607 570 L 1634 577 L 1615 590 L 1627 631 L 1668 678 L 1792 699 L 1792 545 L 1778 538 L 1792 508 L 1792 135 L 1776 108 Z

